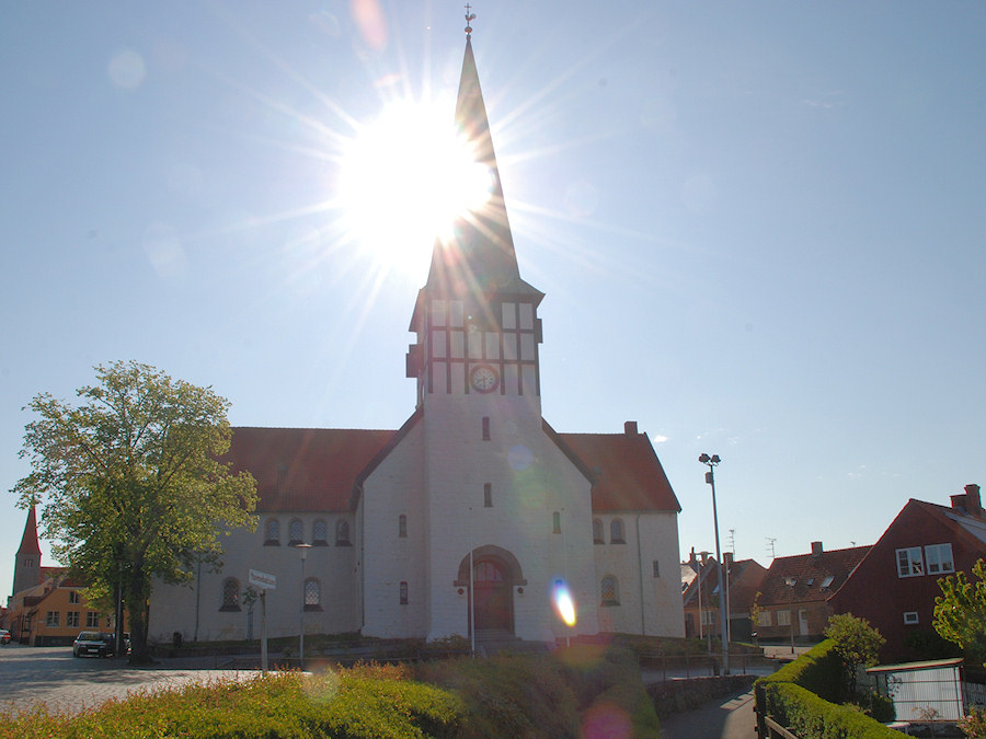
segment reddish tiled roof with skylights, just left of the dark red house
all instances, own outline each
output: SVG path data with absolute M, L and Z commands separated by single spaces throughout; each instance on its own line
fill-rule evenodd
M 870 546 L 853 546 L 818 554 L 798 554 L 777 557 L 760 584 L 760 605 L 783 605 L 828 600 L 842 587 Z M 792 588 L 788 578 L 794 579 Z

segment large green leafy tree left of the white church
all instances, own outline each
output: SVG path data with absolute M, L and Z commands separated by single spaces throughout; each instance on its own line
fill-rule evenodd
M 210 388 L 134 361 L 95 372 L 77 405 L 48 393 L 31 402 L 38 418 L 21 457 L 32 471 L 13 493 L 22 506 L 44 503 L 53 553 L 90 597 L 112 603 L 119 588 L 130 661 L 142 663 L 153 579 L 188 581 L 198 557 L 216 565 L 220 531 L 255 527 L 256 484 L 220 461 L 229 402 Z

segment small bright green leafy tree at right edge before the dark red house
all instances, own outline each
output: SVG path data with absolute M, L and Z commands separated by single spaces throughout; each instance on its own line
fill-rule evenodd
M 932 625 L 942 638 L 954 642 L 976 662 L 986 660 L 986 563 L 973 565 L 973 577 L 955 573 L 938 580 Z

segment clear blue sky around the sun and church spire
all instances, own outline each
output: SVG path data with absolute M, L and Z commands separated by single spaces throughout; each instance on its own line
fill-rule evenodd
M 765 565 L 768 538 L 869 544 L 908 498 L 986 485 L 986 4 L 473 4 L 547 293 L 544 416 L 639 422 L 683 556 L 713 549 L 702 452 L 723 546 Z M 213 385 L 236 425 L 397 428 L 431 244 L 352 231 L 341 152 L 394 99 L 451 119 L 463 25 L 435 1 L 9 4 L 0 488 L 30 399 L 115 359 Z M 25 513 L 0 512 L 5 596 Z

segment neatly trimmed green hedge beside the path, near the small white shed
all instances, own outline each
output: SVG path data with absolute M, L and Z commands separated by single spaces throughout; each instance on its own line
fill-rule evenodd
M 904 736 L 867 716 L 858 706 L 836 705 L 823 697 L 839 700 L 841 682 L 835 642 L 826 639 L 773 674 L 757 680 L 758 709 L 804 739 Z

